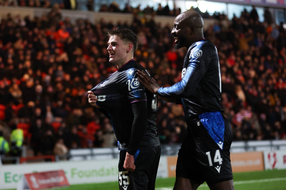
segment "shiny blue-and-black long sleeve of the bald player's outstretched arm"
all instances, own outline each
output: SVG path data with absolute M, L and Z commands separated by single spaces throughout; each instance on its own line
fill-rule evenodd
M 181 81 L 170 87 L 161 87 L 158 89 L 158 95 L 175 98 L 189 97 L 206 73 L 212 59 L 211 54 L 212 52 L 207 44 L 189 50 L 187 54 L 189 64 L 182 70 Z

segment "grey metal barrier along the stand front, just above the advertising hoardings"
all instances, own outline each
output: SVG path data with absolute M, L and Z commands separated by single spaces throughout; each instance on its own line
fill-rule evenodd
M 181 144 L 173 145 L 161 145 L 162 156 L 177 156 Z M 253 152 L 253 151 L 274 151 L 274 150 L 286 150 L 286 140 L 268 140 L 268 141 L 235 141 L 232 142 L 230 152 Z M 82 148 L 71 149 L 65 156 L 58 155 L 46 155 L 46 156 L 32 156 L 32 157 L 4 157 L 1 156 L 1 160 L 4 162 L 12 161 L 19 164 L 28 161 L 50 159 L 51 161 L 63 161 L 63 160 L 104 160 L 119 158 L 119 151 L 117 147 L 111 148 Z M 3 163 L 4 164 L 4 163 Z

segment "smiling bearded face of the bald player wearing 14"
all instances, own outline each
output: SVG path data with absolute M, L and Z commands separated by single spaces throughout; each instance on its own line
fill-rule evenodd
M 174 20 L 174 28 L 171 32 L 175 39 L 175 48 L 179 49 L 182 47 L 186 47 L 187 38 L 187 27 L 184 26 L 182 22 L 184 20 L 183 17 L 176 17 Z

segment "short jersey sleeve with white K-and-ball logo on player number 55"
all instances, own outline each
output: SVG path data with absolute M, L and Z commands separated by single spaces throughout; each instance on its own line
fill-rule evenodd
M 130 103 L 137 101 L 147 101 L 145 93 L 145 87 L 137 79 L 137 70 L 132 68 L 126 72 L 126 80 L 122 81 L 123 89 L 121 89 L 127 95 Z

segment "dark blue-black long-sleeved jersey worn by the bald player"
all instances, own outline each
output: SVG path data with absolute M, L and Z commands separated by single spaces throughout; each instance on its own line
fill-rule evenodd
M 215 45 L 205 39 L 193 43 L 184 59 L 181 81 L 160 88 L 158 95 L 181 98 L 187 120 L 205 112 L 223 112 L 220 64 Z

